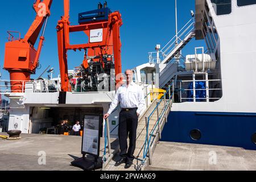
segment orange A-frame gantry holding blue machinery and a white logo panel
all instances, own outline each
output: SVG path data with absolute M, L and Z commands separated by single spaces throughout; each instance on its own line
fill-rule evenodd
M 107 69 L 110 64 L 114 65 L 116 76 L 122 72 L 119 31 L 122 26 L 121 14 L 118 11 L 112 13 L 106 5 L 106 2 L 104 6 L 99 3 L 97 10 L 80 13 L 79 25 L 71 26 L 69 22 L 69 0 L 64 0 L 64 16 L 61 16 L 61 20 L 57 24 L 61 90 L 63 92 L 71 91 L 68 75 L 68 50 L 85 52 L 81 72 L 84 73 L 82 76 L 87 82 L 92 81 L 97 84 L 96 75 L 98 73 L 110 75 L 109 69 Z M 85 32 L 89 37 L 89 42 L 71 45 L 69 33 L 79 31 Z M 98 72 L 95 70 L 98 70 Z M 91 91 L 95 90 L 92 89 Z

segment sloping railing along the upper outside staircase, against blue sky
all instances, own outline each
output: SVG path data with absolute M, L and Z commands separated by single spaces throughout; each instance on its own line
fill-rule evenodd
M 191 18 L 159 52 L 148 52 L 149 63 L 161 63 L 189 34 L 195 30 L 195 18 Z M 159 53 L 159 56 L 158 56 Z

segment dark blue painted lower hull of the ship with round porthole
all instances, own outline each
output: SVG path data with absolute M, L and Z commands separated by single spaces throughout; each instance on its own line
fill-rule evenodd
M 191 130 L 201 131 L 193 140 Z M 216 113 L 171 111 L 162 140 L 168 142 L 213 144 L 256 150 L 251 137 L 256 133 L 256 113 Z

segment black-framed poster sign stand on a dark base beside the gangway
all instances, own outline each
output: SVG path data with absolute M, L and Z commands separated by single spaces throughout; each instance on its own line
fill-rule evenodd
M 102 168 L 102 161 L 98 162 L 100 156 L 100 115 L 85 115 L 84 130 L 82 134 L 82 158 L 73 161 L 72 166 L 80 167 L 85 171 L 93 171 Z M 86 158 L 93 156 L 93 159 Z

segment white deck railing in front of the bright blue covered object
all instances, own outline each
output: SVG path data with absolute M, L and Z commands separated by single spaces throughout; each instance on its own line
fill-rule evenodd
M 221 88 L 211 88 L 210 82 L 220 82 L 220 79 L 215 80 L 177 80 L 176 81 L 176 88 L 174 91 L 174 101 L 178 99 L 179 102 L 210 102 L 213 100 L 220 100 L 221 97 L 210 97 L 210 92 L 220 92 Z M 205 88 L 196 89 L 196 82 L 205 82 Z M 193 83 L 192 89 L 189 89 L 189 84 Z M 212 84 L 213 85 L 213 84 Z M 214 84 L 218 85 L 218 84 Z M 188 92 L 193 93 L 193 97 L 184 97 L 184 95 L 188 96 Z M 203 97 L 196 97 L 196 94 L 200 91 L 205 91 Z M 221 94 L 215 94 L 221 95 Z M 176 98 L 176 97 L 179 98 Z

